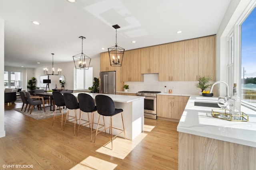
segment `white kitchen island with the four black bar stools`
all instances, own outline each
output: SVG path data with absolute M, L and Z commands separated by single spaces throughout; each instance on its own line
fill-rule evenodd
M 73 93 L 74 96 L 78 96 L 79 93 Z M 98 93 L 86 93 L 92 96 L 95 100 L 95 96 Z M 126 139 L 133 140 L 136 138 L 144 129 L 144 96 L 125 96 L 116 94 L 103 94 L 109 96 L 114 101 L 115 107 L 118 109 L 123 109 L 124 118 L 124 129 Z M 96 104 L 96 103 L 95 103 Z M 80 110 L 79 110 L 80 111 Z M 77 111 L 77 116 L 79 117 L 79 111 Z M 73 112 L 74 113 L 74 112 Z M 98 123 L 98 112 L 94 112 L 94 123 Z M 83 119 L 88 119 L 87 114 L 83 114 Z M 100 118 L 100 123 L 103 123 L 102 116 Z M 121 115 L 114 115 L 112 117 L 113 127 L 118 127 L 122 129 L 122 119 Z M 110 124 L 110 118 L 105 117 L 106 127 Z M 94 129 L 96 129 L 96 124 L 94 124 Z M 120 131 L 113 129 L 113 134 L 118 134 Z M 108 131 L 107 131 L 108 133 Z M 124 137 L 124 133 L 120 134 L 120 137 Z

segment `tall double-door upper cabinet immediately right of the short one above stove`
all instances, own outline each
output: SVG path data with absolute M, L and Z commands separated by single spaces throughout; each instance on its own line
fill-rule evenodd
M 160 45 L 159 81 L 184 81 L 184 41 Z

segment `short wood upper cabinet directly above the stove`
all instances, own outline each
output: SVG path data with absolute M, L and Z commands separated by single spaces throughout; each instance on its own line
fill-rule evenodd
M 159 46 L 140 49 L 141 74 L 159 73 Z

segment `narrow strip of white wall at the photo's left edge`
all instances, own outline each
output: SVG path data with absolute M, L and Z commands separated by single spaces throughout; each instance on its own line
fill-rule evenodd
M 4 80 L 4 20 L 0 18 L 0 80 Z M 4 130 L 4 81 L 0 83 L 0 137 L 5 137 Z

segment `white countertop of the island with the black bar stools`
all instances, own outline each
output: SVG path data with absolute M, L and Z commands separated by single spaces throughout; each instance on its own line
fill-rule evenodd
M 74 96 L 77 97 L 79 93 L 72 93 L 72 94 L 74 94 Z M 99 93 L 86 93 L 86 94 L 89 94 L 90 96 L 92 96 L 93 99 L 95 99 L 95 96 L 99 95 Z M 110 98 L 112 98 L 114 102 L 121 102 L 121 103 L 130 103 L 130 102 L 134 102 L 136 100 L 141 100 L 145 98 L 144 96 L 125 96 L 125 95 L 117 95 L 117 94 L 103 94 L 103 95 L 109 96 Z

